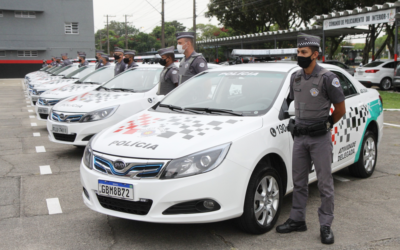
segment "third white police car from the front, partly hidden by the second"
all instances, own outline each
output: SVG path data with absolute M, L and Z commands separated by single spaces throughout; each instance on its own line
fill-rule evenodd
M 37 114 L 36 118 L 38 120 L 47 120 L 51 108 L 59 101 L 98 88 L 99 85 L 114 77 L 114 67 L 115 65 L 102 67 L 88 74 L 87 76 L 82 77 L 78 81 L 73 80 L 72 83 L 65 82 L 61 84 L 62 86 L 43 92 L 40 94 L 38 102 L 36 102 L 35 105 Z

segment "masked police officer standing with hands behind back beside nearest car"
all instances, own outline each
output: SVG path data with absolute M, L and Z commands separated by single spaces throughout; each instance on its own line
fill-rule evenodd
M 304 33 L 297 36 L 297 61 L 302 68 L 293 73 L 290 99 L 294 99 L 296 119 L 288 129 L 294 135 L 292 155 L 293 200 L 289 219 L 276 228 L 279 233 L 305 231 L 308 175 L 314 163 L 321 206 L 318 209 L 321 242 L 333 244 L 331 229 L 334 208 L 332 139 L 330 129 L 345 114 L 344 94 L 337 76 L 319 66 L 320 38 Z M 331 104 L 335 110 L 331 116 Z

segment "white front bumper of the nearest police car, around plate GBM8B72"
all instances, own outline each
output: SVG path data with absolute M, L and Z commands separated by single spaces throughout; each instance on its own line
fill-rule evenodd
M 115 217 L 156 223 L 209 223 L 239 217 L 243 213 L 249 171 L 227 159 L 211 172 L 191 177 L 160 180 L 118 178 L 80 167 L 81 183 L 89 199 L 82 192 L 83 201 L 90 209 Z M 98 198 L 98 180 L 133 185 L 133 201 L 153 201 L 147 215 L 136 215 L 104 208 Z M 187 201 L 212 199 L 221 208 L 213 212 L 163 215 L 169 207 Z

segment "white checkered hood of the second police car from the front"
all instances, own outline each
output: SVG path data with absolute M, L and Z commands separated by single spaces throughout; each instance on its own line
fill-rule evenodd
M 97 86 L 98 87 L 98 86 Z M 54 106 L 54 110 L 63 112 L 91 112 L 102 108 L 123 105 L 141 100 L 144 93 L 90 91 L 67 98 Z M 132 103 L 132 105 L 134 105 Z

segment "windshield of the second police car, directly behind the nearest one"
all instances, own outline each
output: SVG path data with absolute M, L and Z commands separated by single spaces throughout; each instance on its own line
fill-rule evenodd
M 162 68 L 135 68 L 123 72 L 103 87 L 118 91 L 146 92 L 158 84 L 161 71 Z

